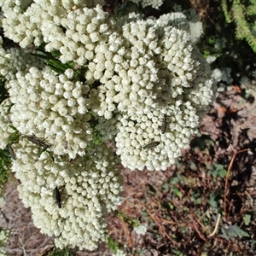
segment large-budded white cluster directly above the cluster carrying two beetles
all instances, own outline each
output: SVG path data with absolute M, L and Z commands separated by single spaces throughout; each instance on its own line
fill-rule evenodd
M 143 115 L 172 105 L 195 78 L 192 50 L 189 33 L 176 27 L 164 29 L 152 20 L 125 24 L 123 38 L 113 34 L 108 44 L 96 47 L 85 73 L 91 82 L 98 73 L 102 83 L 90 92 L 93 109 L 111 119 L 116 111 Z

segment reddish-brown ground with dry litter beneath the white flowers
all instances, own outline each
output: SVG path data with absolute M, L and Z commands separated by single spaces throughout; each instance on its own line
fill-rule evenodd
M 207 238 L 207 233 L 214 229 L 215 222 L 204 230 L 198 218 L 198 212 L 204 212 L 207 205 L 189 201 L 189 196 L 198 192 L 203 200 L 207 200 L 209 191 L 215 191 L 221 195 L 224 190 L 224 200 L 218 200 L 219 212 L 224 213 L 222 225 L 241 224 L 242 214 L 250 212 L 255 206 L 256 198 L 256 171 L 255 165 L 255 124 L 256 105 L 253 95 L 247 94 L 247 90 L 241 86 L 230 85 L 226 90 L 219 93 L 209 113 L 201 122 L 201 134 L 210 137 L 212 145 L 206 151 L 198 150 L 196 139 L 191 142 L 191 149 L 183 152 L 183 158 L 177 161 L 176 166 L 171 166 L 166 172 L 147 172 L 123 169 L 125 177 L 124 203 L 119 207 L 125 216 L 140 220 L 148 227 L 145 236 L 138 236 L 131 225 L 114 214 L 108 216 L 109 235 L 124 245 L 127 255 L 176 255 L 174 248 L 180 248 L 184 255 L 203 255 L 201 251 L 210 243 L 210 255 L 232 252 L 233 255 L 247 255 L 253 248 L 248 247 L 241 239 L 236 240 L 233 245 L 230 241 L 217 236 Z M 243 150 L 241 153 L 239 150 Z M 234 163 L 230 166 L 234 152 Z M 191 160 L 195 166 L 191 166 Z M 213 181 L 206 163 L 222 164 L 228 169 L 229 178 Z M 173 196 L 169 188 L 172 178 L 191 177 L 196 182 L 193 189 L 188 189 L 188 184 L 176 183 L 175 187 L 181 192 L 180 196 Z M 15 180 L 15 179 L 14 179 Z M 9 255 L 43 255 L 51 247 L 53 240 L 40 234 L 32 223 L 29 209 L 23 207 L 19 199 L 16 186 L 18 182 L 8 183 L 5 193 L 6 204 L 1 208 L 0 226 L 12 230 L 6 250 Z M 170 186 L 163 189 L 166 184 Z M 186 185 L 186 186 L 185 186 Z M 220 190 L 219 190 L 220 189 Z M 222 189 L 222 190 L 221 190 Z M 173 192 L 173 190 L 172 190 Z M 192 193 L 192 194 L 191 194 Z M 207 194 L 208 193 L 208 194 Z M 191 196 L 190 196 L 191 197 Z M 164 202 L 172 202 L 176 211 L 167 211 Z M 188 208 L 187 216 L 181 211 Z M 181 232 L 183 225 L 186 235 Z M 247 228 L 247 233 L 255 237 L 255 220 Z M 240 225 L 241 227 L 241 225 Z M 227 251 L 225 251 L 227 250 Z M 142 253 L 142 254 L 139 254 Z M 222 254 L 222 253 L 223 254 Z M 96 252 L 77 252 L 77 255 L 111 255 L 104 245 Z M 205 254 L 207 255 L 207 254 Z

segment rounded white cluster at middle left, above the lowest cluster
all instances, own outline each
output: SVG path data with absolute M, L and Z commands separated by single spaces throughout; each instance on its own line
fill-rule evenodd
M 84 155 L 91 140 L 89 86 L 73 82 L 73 70 L 56 76 L 48 67 L 16 73 L 6 87 L 13 103 L 9 119 L 22 135 L 46 138 L 55 154 Z

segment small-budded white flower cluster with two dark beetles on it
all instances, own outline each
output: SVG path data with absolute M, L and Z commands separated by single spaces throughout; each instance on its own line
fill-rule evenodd
M 165 171 L 180 156 L 181 148 L 189 147 L 189 138 L 199 125 L 196 109 L 190 102 L 154 110 L 142 117 L 123 115 L 115 137 L 123 166 L 131 170 Z M 162 133 L 166 114 L 166 132 Z M 152 143 L 157 142 L 158 145 Z M 151 146 L 152 147 L 151 147 Z

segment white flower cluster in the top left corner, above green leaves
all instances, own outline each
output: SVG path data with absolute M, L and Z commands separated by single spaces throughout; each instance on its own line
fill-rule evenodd
M 102 1 L 35 0 L 26 11 L 6 9 L 5 36 L 26 48 L 29 44 L 60 50 L 63 63 L 75 61 L 84 65 L 94 56 L 96 44 L 105 42 L 113 31 L 113 20 L 97 5 Z M 90 4 L 89 4 L 90 2 Z M 95 8 L 91 8 L 93 6 Z M 87 7 L 88 6 L 88 7 Z

